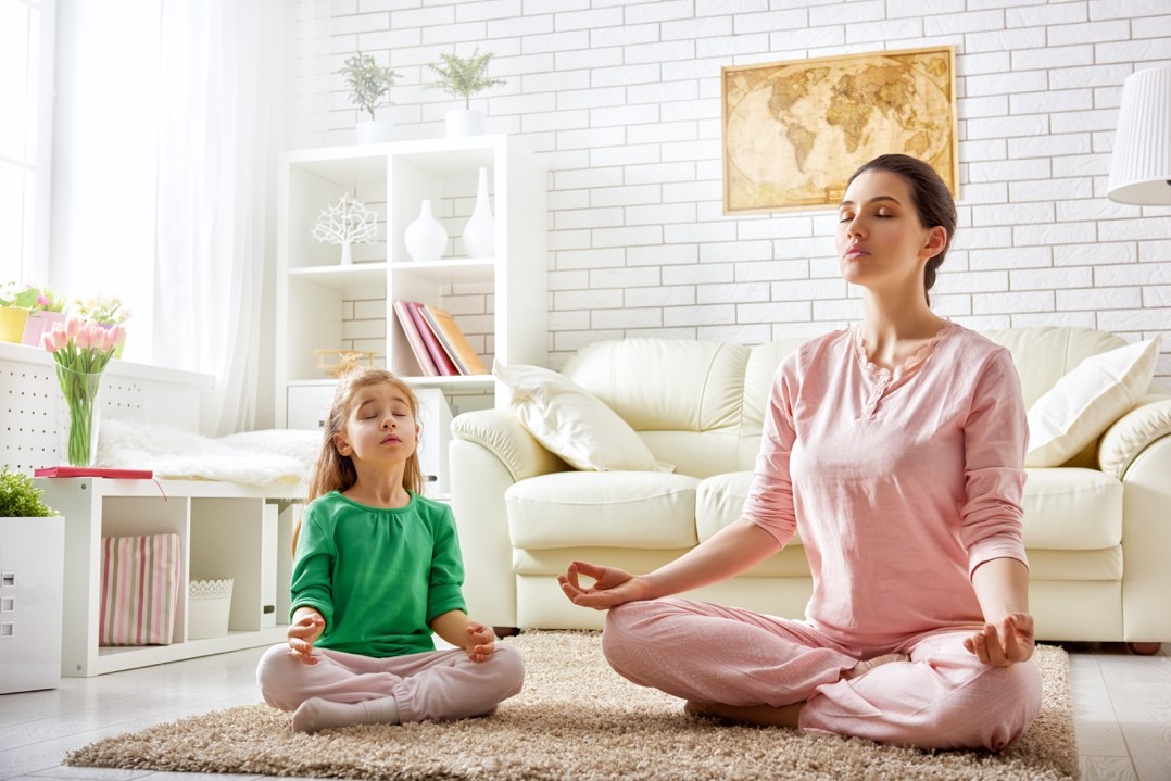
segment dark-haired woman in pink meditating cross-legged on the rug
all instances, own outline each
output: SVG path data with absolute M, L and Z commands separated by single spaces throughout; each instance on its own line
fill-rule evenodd
M 1028 728 L 1025 405 L 1008 351 L 931 311 L 954 229 L 919 160 L 885 155 L 850 178 L 836 244 L 862 322 L 782 362 L 740 520 L 649 575 L 574 562 L 560 578 L 610 609 L 621 674 L 693 714 L 903 746 L 999 749 Z M 804 621 L 657 598 L 732 577 L 795 530 Z

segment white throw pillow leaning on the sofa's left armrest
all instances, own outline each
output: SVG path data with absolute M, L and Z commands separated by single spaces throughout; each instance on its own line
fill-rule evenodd
M 512 409 L 525 429 L 574 468 L 595 472 L 671 472 L 655 460 L 618 413 L 564 375 L 541 366 L 506 366 L 492 374 L 512 391 Z

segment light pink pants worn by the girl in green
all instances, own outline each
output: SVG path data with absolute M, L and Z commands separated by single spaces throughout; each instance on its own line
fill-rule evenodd
M 268 649 L 256 666 L 265 701 L 295 711 L 310 697 L 334 703 L 393 697 L 400 721 L 467 719 L 491 713 L 525 681 L 520 652 L 499 643 L 486 662 L 472 662 L 463 649 L 384 659 L 314 649 L 314 656 L 317 664 L 306 664 L 286 644 Z

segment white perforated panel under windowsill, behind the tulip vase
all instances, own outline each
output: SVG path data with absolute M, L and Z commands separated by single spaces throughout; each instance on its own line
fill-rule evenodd
M 141 417 L 142 398 L 141 382 L 103 375 L 101 419 Z M 0 363 L 0 463 L 26 473 L 62 463 L 63 407 L 53 366 Z

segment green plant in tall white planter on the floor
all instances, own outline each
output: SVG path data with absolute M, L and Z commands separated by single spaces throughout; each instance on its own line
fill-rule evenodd
M 0 588 L 18 626 L 4 639 L 0 694 L 61 683 L 64 521 L 42 495 L 27 474 L 0 468 Z

